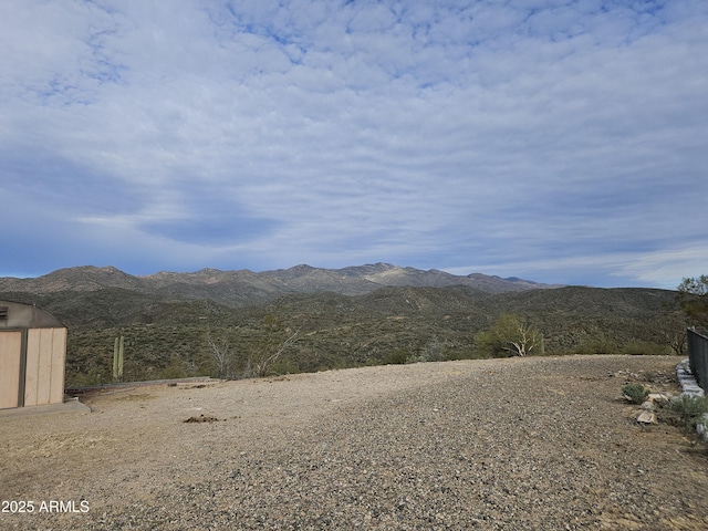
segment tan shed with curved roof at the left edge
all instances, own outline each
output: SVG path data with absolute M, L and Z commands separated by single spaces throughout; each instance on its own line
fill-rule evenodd
M 66 327 L 32 304 L 0 301 L 0 409 L 62 404 Z

